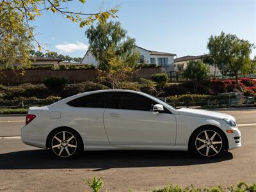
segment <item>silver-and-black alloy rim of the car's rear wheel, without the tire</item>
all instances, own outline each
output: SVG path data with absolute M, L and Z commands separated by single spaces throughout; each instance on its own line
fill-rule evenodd
M 68 131 L 57 132 L 52 137 L 51 148 L 57 156 L 70 157 L 77 149 L 76 137 Z

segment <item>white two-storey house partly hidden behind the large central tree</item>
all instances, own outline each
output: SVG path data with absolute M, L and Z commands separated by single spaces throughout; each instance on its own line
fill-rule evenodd
M 142 47 L 136 46 L 134 51 L 140 52 L 140 61 L 138 63 L 156 64 L 160 72 L 166 72 L 169 77 L 174 74 L 174 56 L 176 54 L 169 52 L 150 51 Z M 98 62 L 93 56 L 92 52 L 87 51 L 81 61 L 82 64 L 92 64 L 98 66 Z

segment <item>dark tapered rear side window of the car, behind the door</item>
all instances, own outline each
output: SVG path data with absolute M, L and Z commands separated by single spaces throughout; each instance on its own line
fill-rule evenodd
M 104 100 L 104 93 L 95 93 L 70 100 L 67 104 L 77 108 L 105 108 Z

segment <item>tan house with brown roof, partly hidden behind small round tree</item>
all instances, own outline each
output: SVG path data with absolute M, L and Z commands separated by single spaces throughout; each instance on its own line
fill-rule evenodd
M 188 66 L 189 61 L 198 61 L 198 60 L 203 60 L 206 56 L 209 56 L 209 54 L 202 54 L 198 56 L 183 56 L 180 58 L 175 58 L 174 59 L 174 71 L 175 71 L 175 76 L 179 76 Z M 210 76 L 220 76 L 221 72 L 219 68 L 215 65 L 209 65 L 209 75 Z

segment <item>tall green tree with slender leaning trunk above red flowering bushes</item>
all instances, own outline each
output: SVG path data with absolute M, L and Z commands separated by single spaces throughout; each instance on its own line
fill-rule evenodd
M 224 32 L 219 36 L 211 35 L 207 44 L 214 62 L 221 70 L 229 71 L 236 77 L 236 83 L 241 91 L 243 89 L 238 82 L 238 74 L 242 71 L 248 72 L 252 47 L 247 40 L 239 39 L 236 35 L 226 35 Z

